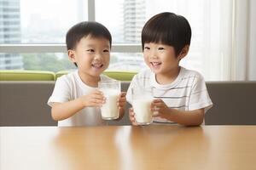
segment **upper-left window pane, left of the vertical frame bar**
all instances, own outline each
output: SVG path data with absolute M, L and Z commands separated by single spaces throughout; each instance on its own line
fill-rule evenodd
M 67 30 L 87 19 L 86 2 L 0 0 L 0 43 L 64 43 Z

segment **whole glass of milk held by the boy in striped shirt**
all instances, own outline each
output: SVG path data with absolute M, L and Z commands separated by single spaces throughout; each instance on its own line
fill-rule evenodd
M 139 125 L 153 122 L 153 112 L 150 111 L 150 104 L 154 99 L 152 90 L 152 88 L 131 88 L 132 107 Z

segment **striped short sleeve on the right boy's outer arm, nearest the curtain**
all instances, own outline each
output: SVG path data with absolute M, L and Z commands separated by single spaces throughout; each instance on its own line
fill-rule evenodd
M 205 108 L 207 112 L 212 107 L 212 100 L 207 91 L 207 85 L 201 75 L 196 76 L 189 95 L 189 111 Z

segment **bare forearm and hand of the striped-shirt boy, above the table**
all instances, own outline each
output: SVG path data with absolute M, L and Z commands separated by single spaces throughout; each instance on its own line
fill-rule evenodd
M 158 111 L 156 116 L 185 126 L 201 125 L 205 115 L 204 108 L 194 111 L 178 111 L 176 109 L 168 108 L 162 99 L 154 99 L 151 104 L 151 110 Z

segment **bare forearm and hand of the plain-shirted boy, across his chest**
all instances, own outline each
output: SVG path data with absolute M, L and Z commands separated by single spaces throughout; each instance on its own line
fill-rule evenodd
M 64 103 L 54 103 L 51 108 L 51 116 L 55 121 L 61 121 L 73 116 L 84 107 L 102 106 L 105 103 L 102 92 L 96 90 L 88 95 L 81 96 Z

